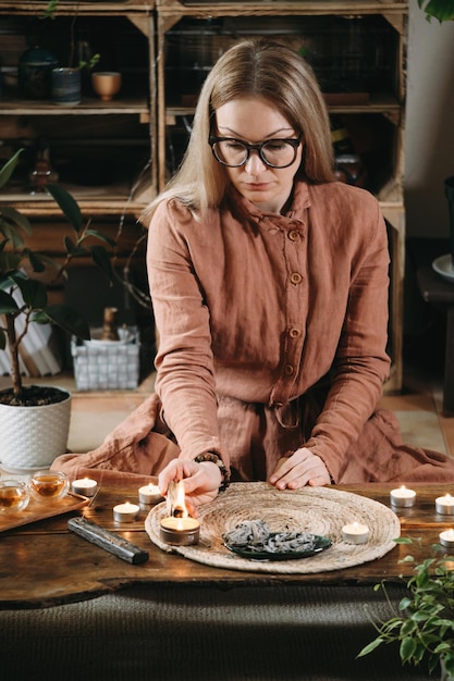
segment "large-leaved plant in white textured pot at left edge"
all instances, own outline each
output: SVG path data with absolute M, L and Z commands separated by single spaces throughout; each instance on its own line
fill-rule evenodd
M 0 188 L 11 177 L 21 151 L 0 170 Z M 71 396 L 57 388 L 23 385 L 20 350 L 33 327 L 32 322 L 54 324 L 76 337 L 90 338 L 89 326 L 76 310 L 66 305 L 48 304 L 47 285 L 39 280 L 39 275 L 50 272 L 50 283 L 53 283 L 68 276 L 69 265 L 74 258 L 89 256 L 113 281 L 113 268 L 105 245 L 113 247 L 114 240 L 93 230 L 89 220 L 84 222 L 78 205 L 62 187 L 48 185 L 47 189 L 74 232 L 73 237 L 64 237 L 65 258 L 60 264 L 26 246 L 25 238 L 32 233 L 29 221 L 16 209 L 0 203 L 0 315 L 4 320 L 0 322 L 0 348 L 9 352 L 11 375 L 11 387 L 0 392 L 0 442 L 1 461 L 3 468 L 8 466 L 9 470 L 44 468 L 64 453 L 68 441 Z M 53 411 L 60 409 L 56 404 L 64 405 L 63 414 L 52 416 Z M 35 420 L 40 418 L 37 416 L 38 406 L 48 409 L 40 428 Z M 26 425 L 19 424 L 22 412 L 25 412 L 25 422 L 33 422 L 32 433 Z M 52 431 L 52 425 L 58 431 L 57 450 L 52 449 L 52 445 L 40 442 L 44 435 Z M 29 455 L 38 450 L 38 461 L 30 463 Z

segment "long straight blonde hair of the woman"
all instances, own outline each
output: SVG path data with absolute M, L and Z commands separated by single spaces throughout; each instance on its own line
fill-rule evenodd
M 207 76 L 181 166 L 146 209 L 144 221 L 148 222 L 156 207 L 169 198 L 177 197 L 201 214 L 221 203 L 229 178 L 214 159 L 208 137 L 216 110 L 242 97 L 266 99 L 303 133 L 302 177 L 310 184 L 333 179 L 330 121 L 312 70 L 279 42 L 245 39 L 224 52 Z

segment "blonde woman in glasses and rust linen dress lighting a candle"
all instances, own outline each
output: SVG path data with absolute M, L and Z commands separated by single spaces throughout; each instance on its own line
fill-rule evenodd
M 454 480 L 453 461 L 406 447 L 375 411 L 390 367 L 385 225 L 376 198 L 332 169 L 304 60 L 265 40 L 226 51 L 144 218 L 157 395 L 88 468 L 159 473 L 164 494 L 184 479 L 195 504 L 230 474 L 280 490 Z

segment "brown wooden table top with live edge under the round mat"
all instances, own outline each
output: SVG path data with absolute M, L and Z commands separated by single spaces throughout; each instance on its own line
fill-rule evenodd
M 392 484 L 343 485 L 389 505 Z M 93 506 L 52 519 L 41 520 L 0 534 L 0 609 L 48 607 L 95 598 L 137 584 L 235 585 L 272 584 L 375 584 L 382 579 L 412 574 L 412 566 L 401 560 L 408 554 L 427 557 L 442 530 L 454 527 L 454 519 L 438 516 L 434 500 L 451 491 L 447 485 L 412 485 L 417 504 L 397 511 L 402 535 L 422 537 L 422 546 L 396 545 L 383 558 L 344 570 L 317 574 L 263 574 L 217 569 L 167 554 L 155 546 L 144 530 L 147 510 L 133 523 L 113 522 L 112 508 L 125 499 L 137 500 L 137 490 L 102 487 Z M 89 520 L 128 538 L 149 553 L 142 565 L 130 565 L 68 530 L 71 516 L 83 513 Z

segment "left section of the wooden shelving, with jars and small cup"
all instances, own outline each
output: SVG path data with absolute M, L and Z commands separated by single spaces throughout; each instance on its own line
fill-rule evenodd
M 83 212 L 138 215 L 157 190 L 154 2 L 63 0 L 54 20 L 42 20 L 45 7 L 42 0 L 0 2 L 0 138 L 5 158 L 22 146 L 24 166 L 32 164 L 34 143 L 45 137 L 61 184 Z M 68 48 L 73 22 L 76 41 L 101 54 L 102 69 L 122 72 L 120 94 L 102 102 L 86 72 L 83 99 L 75 107 L 21 98 L 16 66 L 27 39 L 29 45 L 40 30 L 40 45 L 58 55 L 62 46 Z M 26 174 L 22 185 L 19 174 L 16 184 L 0 194 L 0 203 L 14 201 L 29 215 L 58 213 L 45 195 L 30 196 Z

